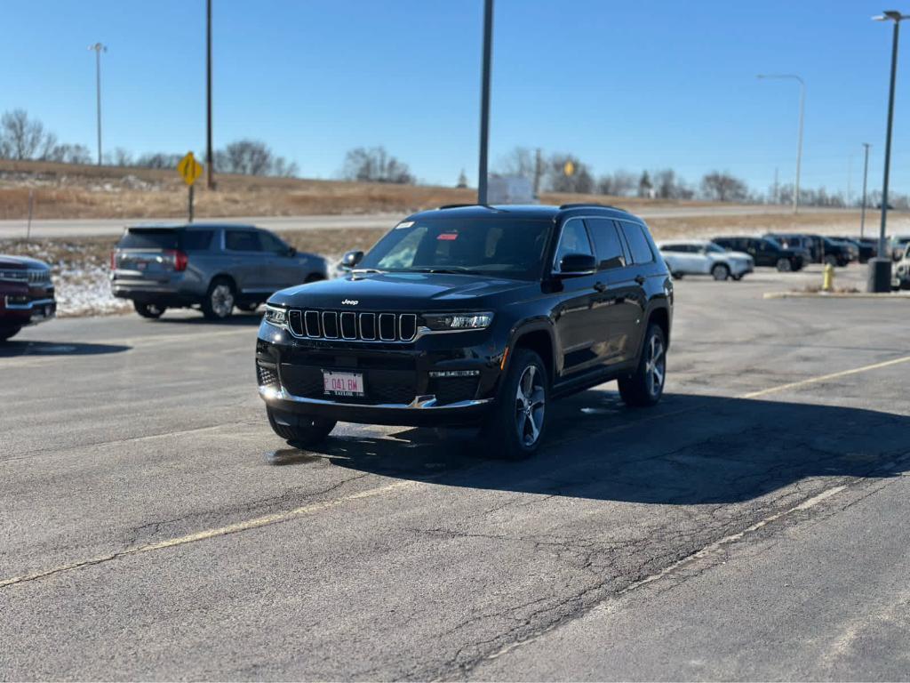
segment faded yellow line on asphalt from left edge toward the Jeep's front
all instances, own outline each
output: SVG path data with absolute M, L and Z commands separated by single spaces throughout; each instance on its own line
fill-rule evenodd
M 258 529 L 262 526 L 274 525 L 280 522 L 287 522 L 289 519 L 303 515 L 311 515 L 316 512 L 321 512 L 323 510 L 328 510 L 332 507 L 338 507 L 343 503 L 348 503 L 349 501 L 362 500 L 364 498 L 371 498 L 376 495 L 388 494 L 391 491 L 396 489 L 405 489 L 410 487 L 416 487 L 418 482 L 396 482 L 395 484 L 388 484 L 386 486 L 379 486 L 379 488 L 372 488 L 366 491 L 359 491 L 356 494 L 345 495 L 340 498 L 335 498 L 334 500 L 325 501 L 323 503 L 313 503 L 310 505 L 302 505 L 296 507 L 293 510 L 288 510 L 287 512 L 272 513 L 271 515 L 262 515 L 261 517 L 255 517 L 253 519 L 248 519 L 244 522 L 237 522 L 236 524 L 227 525 L 227 526 L 218 526 L 214 529 L 207 529 L 205 531 L 198 531 L 195 534 L 187 534 L 183 536 L 177 536 L 176 538 L 168 538 L 164 541 L 158 541 L 157 543 L 149 543 L 147 545 L 136 545 L 136 547 L 126 548 L 117 553 L 111 553 L 109 555 L 102 555 L 92 557 L 87 560 L 80 560 L 79 562 L 71 562 L 66 565 L 60 565 L 53 567 L 51 569 L 45 569 L 41 572 L 35 572 L 35 574 L 25 574 L 23 576 L 13 576 L 12 578 L 7 578 L 0 580 L 0 588 L 5 588 L 6 586 L 14 586 L 15 584 L 25 583 L 26 581 L 34 581 L 38 578 L 44 578 L 45 576 L 51 576 L 53 574 L 58 574 L 60 572 L 70 571 L 72 569 L 78 569 L 83 566 L 98 565 L 103 562 L 109 562 L 118 557 L 126 557 L 130 555 L 138 555 L 140 553 L 150 553 L 153 550 L 163 550 L 164 548 L 173 548 L 177 545 L 187 545 L 188 543 L 196 543 L 197 541 L 205 541 L 208 538 L 216 538 L 217 536 L 225 536 L 228 534 L 237 534 L 240 531 L 248 531 L 249 529 Z

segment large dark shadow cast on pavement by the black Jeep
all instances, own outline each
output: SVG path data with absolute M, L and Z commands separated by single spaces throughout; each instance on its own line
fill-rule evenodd
M 857 408 L 672 393 L 631 410 L 615 392 L 588 391 L 552 410 L 546 445 L 521 463 L 485 459 L 470 430 L 331 436 L 307 453 L 430 484 L 662 505 L 742 502 L 812 476 L 893 476 L 910 454 L 910 417 Z

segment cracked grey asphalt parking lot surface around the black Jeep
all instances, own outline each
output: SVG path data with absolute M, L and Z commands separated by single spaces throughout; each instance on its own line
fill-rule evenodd
M 257 316 L 23 331 L 0 676 L 905 678 L 910 301 L 763 299 L 820 280 L 681 280 L 663 402 L 583 392 L 519 464 L 464 431 L 289 448 Z

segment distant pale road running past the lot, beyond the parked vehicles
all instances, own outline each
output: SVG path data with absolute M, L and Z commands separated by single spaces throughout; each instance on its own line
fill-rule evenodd
M 644 219 L 682 219 L 701 216 L 747 216 L 750 214 L 786 214 L 790 210 L 769 206 L 724 207 L 648 207 L 632 209 Z M 838 213 L 843 209 L 801 209 L 804 213 Z M 223 221 L 253 223 L 272 230 L 332 229 L 332 228 L 390 228 L 403 213 L 333 214 L 323 216 L 253 216 L 230 218 L 199 218 L 198 222 Z M 32 221 L 32 237 L 87 237 L 119 235 L 127 225 L 148 222 L 173 223 L 179 219 L 49 219 Z M 0 239 L 25 237 L 25 219 L 0 220 Z

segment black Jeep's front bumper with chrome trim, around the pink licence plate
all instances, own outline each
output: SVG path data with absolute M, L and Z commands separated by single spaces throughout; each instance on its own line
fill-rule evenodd
M 474 424 L 493 403 L 501 375 L 502 350 L 493 337 L 479 330 L 409 343 L 317 341 L 263 322 L 256 352 L 259 395 L 273 410 L 341 422 Z M 361 373 L 366 395 L 327 396 L 322 371 Z M 463 374 L 438 376 L 455 372 Z

